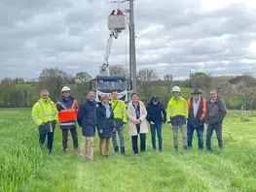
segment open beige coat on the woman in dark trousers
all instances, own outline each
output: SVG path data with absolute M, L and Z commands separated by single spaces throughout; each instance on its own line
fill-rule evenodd
M 148 133 L 148 124 L 146 120 L 147 110 L 143 102 L 139 101 L 139 109 L 140 109 L 140 133 Z M 128 104 L 128 135 L 129 136 L 136 136 L 137 128 L 136 124 L 134 123 L 136 120 L 136 112 L 132 106 L 132 102 Z

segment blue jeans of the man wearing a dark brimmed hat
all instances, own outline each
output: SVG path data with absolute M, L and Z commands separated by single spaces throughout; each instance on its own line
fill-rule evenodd
M 188 136 L 188 146 L 192 147 L 192 141 L 193 141 L 193 136 L 194 136 L 194 131 L 197 131 L 198 134 L 198 141 L 199 141 L 199 149 L 203 149 L 203 124 L 198 126 L 198 127 L 194 127 L 191 124 L 188 124 L 187 126 L 188 130 L 187 130 L 187 136 Z

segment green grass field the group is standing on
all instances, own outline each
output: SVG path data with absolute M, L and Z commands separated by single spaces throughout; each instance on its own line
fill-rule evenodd
M 192 150 L 183 152 L 180 145 L 175 152 L 172 133 L 165 126 L 163 153 L 152 151 L 149 133 L 146 152 L 135 157 L 126 130 L 127 157 L 100 157 L 96 136 L 93 162 L 73 151 L 63 154 L 58 128 L 53 155 L 41 151 L 30 109 L 2 109 L 0 115 L 0 191 L 256 191 L 253 113 L 248 113 L 249 121 L 242 122 L 239 112 L 229 112 L 223 150 L 217 148 L 214 134 L 213 152 L 199 152 L 196 136 Z M 78 131 L 84 152 L 81 128 Z M 69 146 L 72 150 L 71 137 Z

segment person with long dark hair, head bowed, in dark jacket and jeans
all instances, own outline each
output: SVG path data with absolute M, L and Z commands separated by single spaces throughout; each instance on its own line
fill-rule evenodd
M 160 98 L 154 95 L 147 105 L 147 120 L 150 124 L 151 141 L 153 149 L 156 150 L 156 132 L 159 140 L 159 151 L 163 151 L 162 124 L 166 122 L 166 111 Z

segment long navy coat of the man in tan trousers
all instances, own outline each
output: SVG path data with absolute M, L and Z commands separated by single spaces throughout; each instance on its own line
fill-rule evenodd
M 96 103 L 90 100 L 85 101 L 79 107 L 77 114 L 77 122 L 82 127 L 82 135 L 84 137 L 95 137 Z

